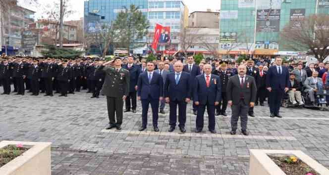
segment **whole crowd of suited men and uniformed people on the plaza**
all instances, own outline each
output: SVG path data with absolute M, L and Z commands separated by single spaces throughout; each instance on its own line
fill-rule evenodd
M 60 93 L 59 96 L 67 96 L 81 89 L 91 92 L 91 98 L 106 95 L 110 120 L 107 129 L 117 130 L 121 129 L 123 112 L 136 113 L 137 100 L 142 103 L 139 131 L 147 127 L 150 104 L 154 131 L 159 131 L 158 113 L 165 114 L 164 107 L 168 104 L 168 131 L 175 130 L 178 106 L 178 126 L 180 131 L 185 132 L 186 104 L 193 101 L 193 113 L 197 116 L 195 131 L 202 131 L 207 107 L 208 129 L 216 133 L 215 116 L 227 116 L 229 105 L 232 109 L 231 134 L 236 133 L 240 117 L 242 133 L 248 135 L 247 117 L 255 117 L 255 105 L 264 106 L 267 100 L 270 117 L 281 118 L 279 108 L 285 93 L 294 105 L 303 105 L 302 91 L 307 92 L 314 103 L 318 84 L 329 86 L 328 71 L 329 63 L 306 66 L 302 61 L 283 62 L 281 57 L 276 57 L 274 62 L 269 58 L 254 58 L 241 63 L 203 59 L 197 65 L 193 56 L 188 56 L 185 64 L 176 58 L 147 62 L 133 56 L 116 57 L 109 62 L 85 58 L 2 56 L 0 84 L 2 94 L 10 94 L 13 84 L 16 95 L 24 95 L 28 90 L 31 95 L 44 93 L 44 96 L 53 96 Z

